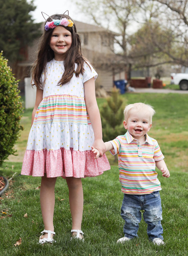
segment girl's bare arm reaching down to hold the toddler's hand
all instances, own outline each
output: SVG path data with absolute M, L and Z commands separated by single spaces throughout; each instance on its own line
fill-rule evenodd
M 95 96 L 95 79 L 94 77 L 84 83 L 85 93 L 85 105 L 87 113 L 89 114 L 93 132 L 95 135 L 95 141 L 93 147 L 98 149 L 100 156 L 105 153 L 105 145 L 102 139 L 102 124 L 101 116 L 97 106 L 97 100 Z

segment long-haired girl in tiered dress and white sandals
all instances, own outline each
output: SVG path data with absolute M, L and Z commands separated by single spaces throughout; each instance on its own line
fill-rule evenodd
M 46 21 L 32 73 L 37 93 L 21 172 L 42 177 L 41 244 L 54 242 L 56 178 L 61 176 L 67 181 L 71 235 L 84 240 L 81 178 L 110 169 L 95 97 L 97 73 L 81 53 L 81 40 L 73 21 L 65 13 L 55 14 Z M 101 158 L 94 159 L 92 145 Z

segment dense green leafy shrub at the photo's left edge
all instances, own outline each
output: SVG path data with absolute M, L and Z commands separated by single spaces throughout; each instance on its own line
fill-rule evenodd
M 19 137 L 21 113 L 23 111 L 19 96 L 18 81 L 12 75 L 8 60 L 0 53 L 0 166 L 11 154 Z

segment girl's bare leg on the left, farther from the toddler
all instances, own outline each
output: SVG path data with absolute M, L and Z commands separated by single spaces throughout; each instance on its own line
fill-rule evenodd
M 54 231 L 54 206 L 55 206 L 55 178 L 43 176 L 41 179 L 40 202 L 44 229 Z M 47 238 L 48 234 L 44 234 Z M 51 235 L 52 236 L 52 235 Z

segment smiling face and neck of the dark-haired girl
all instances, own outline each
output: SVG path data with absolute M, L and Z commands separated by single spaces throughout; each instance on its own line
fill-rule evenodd
M 65 59 L 65 53 L 71 48 L 72 34 L 63 26 L 56 26 L 51 34 L 50 48 L 54 51 L 54 59 Z

